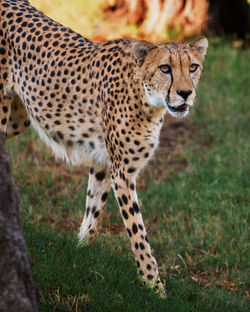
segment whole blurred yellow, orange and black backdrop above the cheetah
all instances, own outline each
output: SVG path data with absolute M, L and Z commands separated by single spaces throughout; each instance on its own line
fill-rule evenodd
M 201 33 L 249 32 L 247 0 L 31 0 L 36 8 L 78 33 L 103 41 L 136 37 L 182 40 Z

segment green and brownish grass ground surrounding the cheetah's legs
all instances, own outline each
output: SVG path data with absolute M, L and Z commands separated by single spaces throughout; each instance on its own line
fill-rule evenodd
M 248 50 L 211 40 L 186 143 L 172 156 L 186 165 L 167 183 L 139 178 L 166 300 L 137 279 L 112 194 L 101 235 L 79 247 L 86 169 L 55 162 L 33 131 L 7 142 L 40 311 L 249 311 L 249 71 Z

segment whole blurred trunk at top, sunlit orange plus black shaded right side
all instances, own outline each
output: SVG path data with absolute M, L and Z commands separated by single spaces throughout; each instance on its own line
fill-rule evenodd
M 140 37 L 179 39 L 211 32 L 246 37 L 247 0 L 106 0 L 103 10 L 121 24 L 136 24 Z

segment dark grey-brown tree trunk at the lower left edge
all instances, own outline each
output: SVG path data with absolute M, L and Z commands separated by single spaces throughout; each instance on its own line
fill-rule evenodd
M 35 312 L 37 288 L 23 238 L 19 198 L 0 131 L 0 311 Z

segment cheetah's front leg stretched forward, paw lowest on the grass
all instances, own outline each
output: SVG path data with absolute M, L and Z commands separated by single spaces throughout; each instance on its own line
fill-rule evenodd
M 135 178 L 132 174 L 112 173 L 112 187 L 118 201 L 131 247 L 135 255 L 139 274 L 146 284 L 165 297 L 164 287 L 159 278 L 158 265 L 152 256 L 142 215 L 138 205 Z

